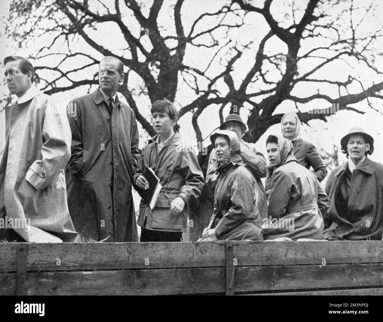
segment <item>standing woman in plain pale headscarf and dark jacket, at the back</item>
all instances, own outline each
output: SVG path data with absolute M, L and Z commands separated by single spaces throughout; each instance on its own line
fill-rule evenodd
M 286 113 L 281 120 L 282 135 L 293 143 L 293 153 L 301 166 L 314 170 L 314 174 L 321 182 L 327 174 L 327 168 L 316 147 L 301 138 L 301 121 L 294 112 Z M 268 177 L 268 176 L 267 176 Z M 270 181 L 266 179 L 266 193 L 270 194 Z

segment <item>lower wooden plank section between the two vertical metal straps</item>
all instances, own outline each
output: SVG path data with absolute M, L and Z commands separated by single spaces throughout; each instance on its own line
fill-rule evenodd
M 29 273 L 33 295 L 167 295 L 225 292 L 223 268 Z

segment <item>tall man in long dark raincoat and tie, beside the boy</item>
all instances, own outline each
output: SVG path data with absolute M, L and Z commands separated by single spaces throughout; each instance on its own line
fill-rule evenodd
M 117 96 L 123 80 L 123 63 L 104 57 L 100 87 L 74 99 L 67 109 L 72 130 L 68 206 L 84 241 L 138 239 L 131 185 L 138 166 L 139 135 L 133 110 Z

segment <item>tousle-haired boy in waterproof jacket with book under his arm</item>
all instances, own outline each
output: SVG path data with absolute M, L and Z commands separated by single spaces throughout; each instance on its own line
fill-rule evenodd
M 157 135 L 142 149 L 133 187 L 148 189 L 149 182 L 142 173 L 151 167 L 162 189 L 153 209 L 141 200 L 137 221 L 141 226 L 140 241 L 182 241 L 187 228 L 188 202 L 200 196 L 205 181 L 195 152 L 185 147 L 180 134 L 173 130 L 178 120 L 175 106 L 167 99 L 155 101 L 151 113 Z

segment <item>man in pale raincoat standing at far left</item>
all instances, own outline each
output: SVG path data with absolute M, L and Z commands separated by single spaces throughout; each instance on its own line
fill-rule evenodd
M 69 216 L 64 168 L 70 128 L 59 104 L 32 85 L 23 57 L 5 58 L 5 76 L 18 100 L 7 120 L 0 163 L 0 240 L 78 242 Z

